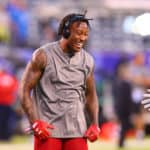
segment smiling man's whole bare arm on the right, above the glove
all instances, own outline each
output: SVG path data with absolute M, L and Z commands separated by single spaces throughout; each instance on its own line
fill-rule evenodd
M 91 123 L 98 125 L 98 98 L 93 72 L 88 76 L 86 81 L 86 108 L 91 118 Z

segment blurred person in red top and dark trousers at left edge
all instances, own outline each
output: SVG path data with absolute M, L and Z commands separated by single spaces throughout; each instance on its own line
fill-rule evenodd
M 6 72 L 0 71 L 0 140 L 9 140 L 15 130 L 15 103 L 18 81 Z

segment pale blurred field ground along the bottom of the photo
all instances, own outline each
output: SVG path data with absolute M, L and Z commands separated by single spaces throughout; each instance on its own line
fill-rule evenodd
M 115 141 L 98 140 L 88 144 L 89 150 L 118 150 Z M 0 150 L 33 150 L 33 140 L 31 137 L 16 136 L 9 143 L 0 142 Z M 121 150 L 150 150 L 150 137 L 140 142 L 135 139 L 127 139 L 126 147 Z

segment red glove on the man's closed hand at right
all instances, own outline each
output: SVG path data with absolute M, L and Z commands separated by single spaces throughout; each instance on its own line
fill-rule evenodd
M 85 137 L 87 137 L 87 139 L 90 142 L 94 142 L 98 139 L 99 133 L 100 133 L 99 127 L 95 124 L 92 124 L 85 132 Z

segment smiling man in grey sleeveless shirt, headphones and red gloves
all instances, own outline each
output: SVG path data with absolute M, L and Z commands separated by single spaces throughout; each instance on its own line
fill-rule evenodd
M 94 60 L 83 49 L 89 28 L 84 14 L 68 14 L 60 22 L 60 40 L 37 49 L 25 68 L 20 98 L 35 150 L 87 150 L 87 139 L 98 139 Z

